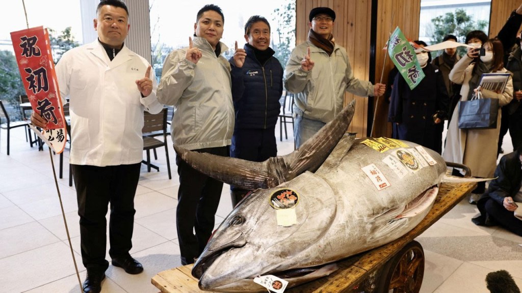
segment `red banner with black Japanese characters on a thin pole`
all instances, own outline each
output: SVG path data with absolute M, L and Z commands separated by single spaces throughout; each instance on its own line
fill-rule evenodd
M 61 153 L 67 130 L 49 33 L 43 27 L 30 28 L 11 32 L 11 40 L 31 107 L 48 121 L 48 129 L 43 130 L 42 135 L 51 143 L 55 152 Z

